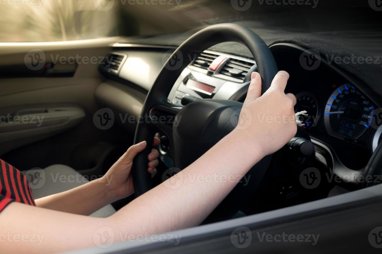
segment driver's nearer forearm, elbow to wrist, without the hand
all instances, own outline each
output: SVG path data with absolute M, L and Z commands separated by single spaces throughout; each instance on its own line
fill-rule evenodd
M 260 147 L 253 150 L 243 147 L 251 137 L 242 140 L 240 131 L 227 135 L 174 176 L 179 179 L 173 185 L 175 189 L 168 187 L 169 179 L 133 200 L 109 220 L 118 230 L 128 229 L 132 234 L 154 234 L 199 225 L 263 156 Z M 213 175 L 218 181 L 206 181 Z

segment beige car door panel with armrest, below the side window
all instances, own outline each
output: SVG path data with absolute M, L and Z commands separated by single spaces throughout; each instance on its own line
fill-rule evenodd
M 21 170 L 60 163 L 98 174 L 103 170 L 107 153 L 131 142 L 132 135 L 124 135 L 117 125 L 107 131 L 93 122 L 95 112 L 102 107 L 94 96 L 104 81 L 99 64 L 108 56 L 110 45 L 116 40 L 117 37 L 0 43 L 0 116 L 45 118 L 44 124 L 37 128 L 34 128 L 36 125 L 1 122 L 0 156 L 3 160 Z M 31 50 L 44 54 L 45 66 L 44 72 L 29 76 L 20 66 L 29 66 Z

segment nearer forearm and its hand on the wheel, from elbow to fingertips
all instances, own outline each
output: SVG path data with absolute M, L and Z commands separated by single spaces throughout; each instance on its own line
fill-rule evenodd
M 282 148 L 296 134 L 293 109 L 296 98 L 293 94 L 284 93 L 288 73 L 279 72 L 263 96 L 260 74 L 253 73 L 252 77 L 243 105 L 249 110 L 246 110 L 244 118 L 248 118 L 248 112 L 252 115 L 249 127 L 233 130 L 178 173 L 179 176 L 176 174 L 174 177 L 178 180 L 175 183 L 169 184 L 174 177 L 168 179 L 111 216 L 109 219 L 112 221 L 123 221 L 115 225 L 118 230 L 129 228 L 129 232 L 161 233 L 199 225 L 254 164 Z M 261 122 L 263 116 L 272 119 Z M 221 179 L 234 181 L 197 180 L 207 179 L 214 173 Z M 139 217 L 151 218 L 153 215 L 160 220 L 134 223 Z

